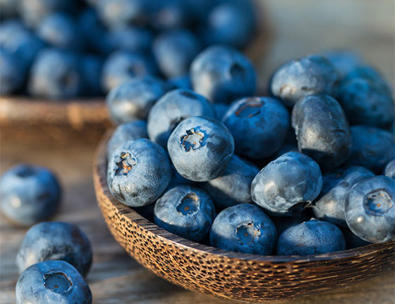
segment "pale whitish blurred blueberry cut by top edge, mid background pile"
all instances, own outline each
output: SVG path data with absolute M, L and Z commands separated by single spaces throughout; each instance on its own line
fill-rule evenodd
M 157 5 L 152 0 L 98 0 L 96 8 L 109 28 L 125 28 L 147 23 L 153 7 Z

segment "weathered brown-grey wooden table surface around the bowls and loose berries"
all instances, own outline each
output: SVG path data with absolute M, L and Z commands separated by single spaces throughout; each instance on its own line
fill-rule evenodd
M 260 63 L 261 79 L 267 79 L 272 69 L 291 57 L 328 47 L 348 47 L 358 50 L 394 83 L 393 0 L 265 0 L 265 5 L 272 44 Z M 16 163 L 28 162 L 45 165 L 59 175 L 64 197 L 54 220 L 76 223 L 92 242 L 94 263 L 87 281 L 94 303 L 232 303 L 174 286 L 126 255 L 111 237 L 95 201 L 94 151 L 95 146 L 73 142 L 54 146 L 45 141 L 45 134 L 41 141 L 34 139 L 30 143 L 18 138 L 0 142 L 0 173 Z M 24 234 L 24 228 L 12 226 L 0 216 L 0 303 L 15 303 L 15 257 Z M 395 275 L 385 274 L 356 286 L 287 303 L 392 304 Z

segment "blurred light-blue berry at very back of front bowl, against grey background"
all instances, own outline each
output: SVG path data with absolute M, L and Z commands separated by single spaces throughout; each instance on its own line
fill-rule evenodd
M 356 69 L 362 62 L 356 52 L 350 50 L 333 49 L 322 54 L 333 64 L 341 78 Z

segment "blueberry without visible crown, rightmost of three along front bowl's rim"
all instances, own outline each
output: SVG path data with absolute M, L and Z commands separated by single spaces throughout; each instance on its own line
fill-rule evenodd
M 341 230 L 316 219 L 291 226 L 277 240 L 277 255 L 320 255 L 345 249 Z

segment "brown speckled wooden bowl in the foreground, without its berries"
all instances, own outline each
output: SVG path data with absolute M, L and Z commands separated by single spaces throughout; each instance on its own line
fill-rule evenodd
M 372 279 L 394 269 L 395 242 L 325 255 L 260 256 L 219 250 L 169 233 L 112 197 L 107 141 L 95 156 L 97 202 L 109 230 L 142 266 L 179 286 L 241 301 L 287 300 Z

